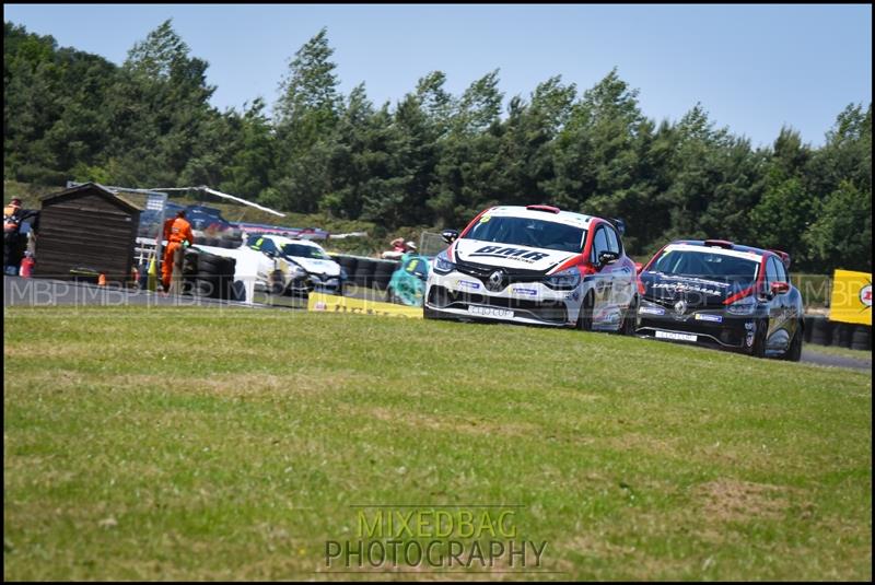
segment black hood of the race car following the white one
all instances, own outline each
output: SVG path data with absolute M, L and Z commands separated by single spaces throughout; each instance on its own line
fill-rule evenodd
M 642 272 L 639 278 L 644 286 L 644 299 L 666 306 L 674 306 L 682 300 L 690 307 L 719 308 L 726 299 L 751 285 L 750 282 L 738 283 L 662 272 Z

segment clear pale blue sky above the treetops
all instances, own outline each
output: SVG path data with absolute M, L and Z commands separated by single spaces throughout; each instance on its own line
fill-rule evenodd
M 650 118 L 697 102 L 718 126 L 814 145 L 849 103 L 872 101 L 871 5 L 4 4 L 4 20 L 116 63 L 166 19 L 209 63 L 212 103 L 272 104 L 289 59 L 323 26 L 341 91 L 395 103 L 433 70 L 458 95 L 500 69 L 505 100 L 555 74 L 579 91 L 611 68 Z

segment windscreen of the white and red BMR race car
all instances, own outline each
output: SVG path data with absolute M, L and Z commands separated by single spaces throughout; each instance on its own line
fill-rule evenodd
M 580 253 L 586 239 L 586 230 L 532 218 L 485 215 L 465 234 L 465 238 Z

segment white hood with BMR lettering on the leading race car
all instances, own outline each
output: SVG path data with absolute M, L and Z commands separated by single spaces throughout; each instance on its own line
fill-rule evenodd
M 546 273 L 574 256 L 578 254 L 479 239 L 457 239 L 455 247 L 457 261 L 504 268 L 509 272 Z

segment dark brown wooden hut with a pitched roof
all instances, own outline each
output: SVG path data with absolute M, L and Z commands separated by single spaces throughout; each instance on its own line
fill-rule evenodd
M 139 222 L 137 207 L 95 183 L 43 197 L 34 276 L 129 281 Z

